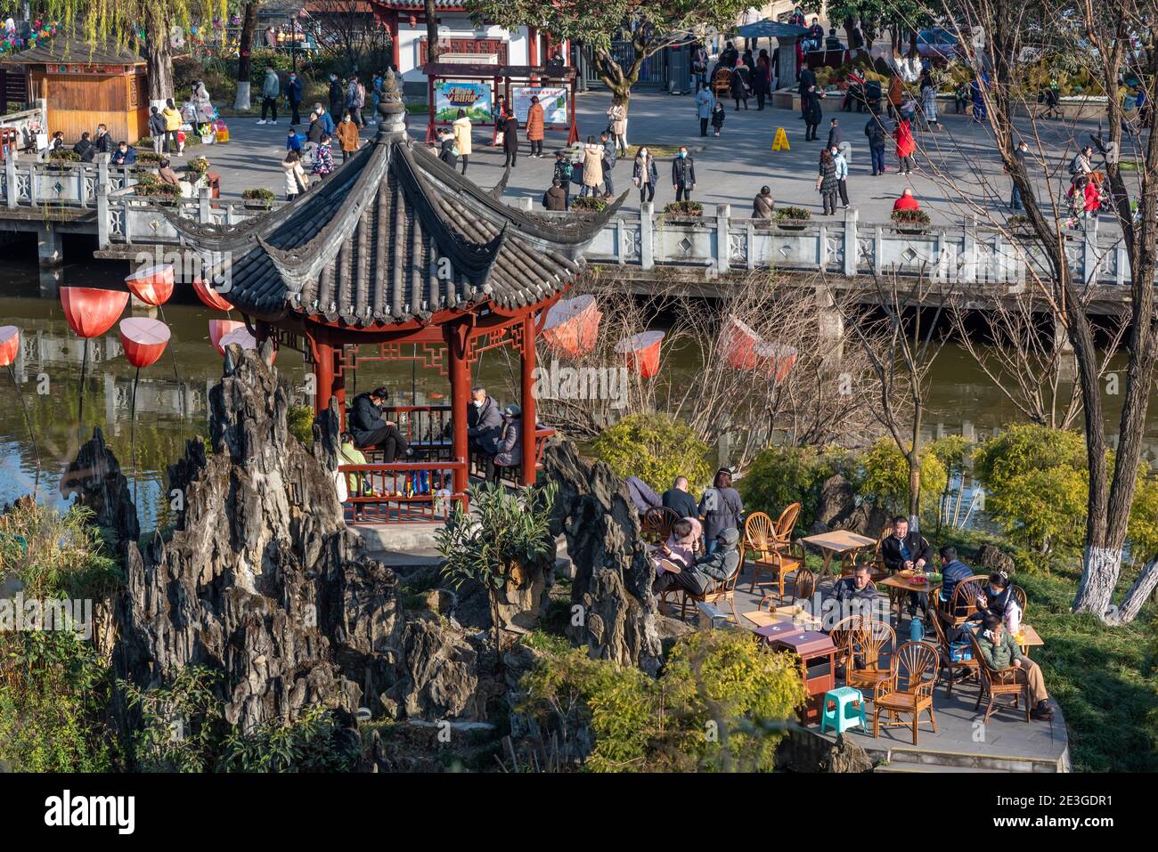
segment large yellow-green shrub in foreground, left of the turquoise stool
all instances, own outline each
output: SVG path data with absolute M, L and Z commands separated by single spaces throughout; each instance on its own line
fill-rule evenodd
M 560 742 L 589 743 L 566 757 L 592 772 L 771 770 L 805 698 L 793 658 L 734 630 L 683 637 L 659 680 L 571 649 L 542 655 L 520 686 L 520 712 Z

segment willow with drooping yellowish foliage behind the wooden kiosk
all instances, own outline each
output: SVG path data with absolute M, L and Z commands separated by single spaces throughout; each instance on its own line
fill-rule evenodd
M 42 0 L 37 12 L 58 21 L 91 45 L 113 43 L 139 46 L 148 67 L 148 97 L 160 101 L 174 96 L 174 27 L 190 27 L 225 19 L 227 0 Z

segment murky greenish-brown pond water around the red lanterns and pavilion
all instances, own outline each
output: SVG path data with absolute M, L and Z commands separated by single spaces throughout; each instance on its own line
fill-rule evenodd
M 127 271 L 124 263 L 90 262 L 66 266 L 57 280 L 73 286 L 111 286 Z M 145 314 L 140 308 L 131 310 Z M 8 376 L 0 376 L 0 502 L 32 490 L 36 457 L 20 402 L 22 396 L 41 455 L 42 499 L 64 505 L 58 490 L 60 475 L 80 441 L 100 426 L 137 489 L 141 528 L 147 530 L 159 519 L 163 521 L 167 501 L 161 491 L 166 465 L 181 456 L 186 439 L 207 432 L 207 394 L 221 375 L 221 358 L 210 343 L 208 321 L 220 317 L 197 301 L 191 288 L 178 286 L 164 307 L 164 320 L 173 331 L 169 351 L 141 372 L 135 418 L 131 417 L 134 370 L 120 351 L 116 326 L 90 340 L 83 428 L 79 428 L 82 341 L 72 333 L 52 284 L 42 282 L 36 265 L 9 263 L 0 277 L 0 324 L 20 328 L 22 345 L 13 370 L 20 396 Z M 309 403 L 301 355 L 283 350 L 277 366 L 294 401 Z M 686 366 L 694 368 L 691 362 Z M 482 363 L 476 365 L 475 380 L 493 388 L 513 388 L 518 365 L 500 352 L 485 353 Z M 359 385 L 365 390 L 376 384 L 391 388 L 396 404 L 445 404 L 449 397 L 445 376 L 406 362 L 364 363 L 353 384 L 347 384 L 347 395 L 352 396 L 351 391 Z M 501 391 L 496 396 L 501 398 Z M 1120 397 L 1107 396 L 1106 403 L 1107 417 L 1116 421 Z M 925 423 L 930 436 L 963 433 L 983 438 L 995 427 L 1019 418 L 1017 409 L 968 353 L 953 344 L 943 350 L 935 365 L 929 409 Z M 1156 414 L 1158 406 L 1152 405 L 1146 428 L 1146 456 L 1151 462 L 1158 449 Z M 135 469 L 131 453 L 133 423 Z

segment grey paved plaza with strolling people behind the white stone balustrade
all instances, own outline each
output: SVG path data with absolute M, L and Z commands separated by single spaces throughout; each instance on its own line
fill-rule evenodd
M 579 96 L 577 112 L 580 138 L 598 135 L 603 130 L 604 112 L 609 103 L 610 95 L 606 91 L 591 91 Z M 952 115 L 951 108 L 948 115 L 941 116 L 944 128 L 939 133 L 918 133 L 922 149 L 917 159 L 919 171 L 911 176 L 897 175 L 893 170 L 896 156 L 888 150 L 886 163 L 889 171 L 881 177 L 872 177 L 864 135 L 867 116 L 835 111 L 837 103 L 836 98 L 824 103 L 820 142 L 804 141 L 804 122 L 797 112 L 771 106 L 761 112 L 755 109 L 755 101 L 749 102 L 752 109 L 741 109 L 739 112 L 728 102 L 724 132 L 717 139 L 710 135 L 710 131 L 708 138 L 699 137 L 699 124 L 690 96 L 639 93 L 631 98 L 628 141 L 632 154 L 640 142 L 688 145 L 696 161 L 698 178 L 694 197 L 705 205 L 732 204 L 733 215 L 746 215 L 750 211 L 752 197 L 762 184 L 768 184 L 778 205 L 806 207 L 818 215 L 821 213 L 821 205 L 820 196 L 814 189 L 816 161 L 821 145 L 827 139 L 828 119 L 835 116 L 844 130 L 845 139 L 852 144 L 849 194 L 862 221 L 886 221 L 893 201 L 904 186 L 913 188 L 914 194 L 921 199 L 922 207 L 935 222 L 955 223 L 973 213 L 969 205 L 961 200 L 961 196 L 983 201 L 987 210 L 1005 212 L 1010 182 L 1002 174 L 988 126 L 974 123 L 967 116 Z M 225 197 L 236 198 L 243 189 L 265 186 L 280 198 L 284 183 L 279 162 L 285 154 L 288 130 L 286 120 L 281 119 L 277 125 L 258 125 L 256 118 L 248 117 L 227 120 L 233 141 L 221 146 L 198 146 L 191 153 L 210 159 L 213 168 L 221 175 Z M 424 139 L 425 116 L 411 115 L 409 120 L 411 134 L 416 139 Z M 1023 120 L 1019 126 L 1024 132 L 1029 132 L 1028 120 Z M 791 150 L 771 150 L 777 127 L 786 131 Z M 1095 123 L 1042 122 L 1038 130 L 1046 152 L 1045 166 L 1054 172 L 1054 186 L 1068 185 L 1065 166 L 1073 155 L 1075 140 L 1086 140 L 1089 132 L 1095 130 Z M 368 138 L 375 132 L 374 125 L 371 125 L 362 135 Z M 468 170 L 469 177 L 486 188 L 501 178 L 504 160 L 501 152 L 488 144 L 490 134 L 490 127 L 481 127 L 475 132 L 475 152 Z M 507 183 L 505 198 L 529 197 L 537 207 L 543 191 L 550 185 L 554 152 L 563 147 L 564 142 L 562 132 L 552 132 L 548 134 L 542 159 L 520 156 Z M 1032 150 L 1035 147 L 1031 145 Z M 526 149 L 526 144 L 523 148 Z M 336 155 L 336 160 L 340 162 L 340 153 Z M 665 157 L 659 163 L 657 208 L 674 200 L 674 192 L 667 183 L 669 162 Z M 933 170 L 941 176 L 935 179 Z M 613 177 L 617 192 L 631 188 L 630 160 L 621 161 L 615 167 Z M 958 192 L 945 190 L 945 177 L 958 182 Z M 1042 178 L 1040 184 L 1045 191 L 1046 179 Z M 629 196 L 626 210 L 638 210 L 637 194 Z

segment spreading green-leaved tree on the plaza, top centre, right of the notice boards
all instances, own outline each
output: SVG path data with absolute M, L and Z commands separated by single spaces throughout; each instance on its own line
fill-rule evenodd
M 536 27 L 556 39 L 578 42 L 599 79 L 623 102 L 624 113 L 648 58 L 709 31 L 733 29 L 748 6 L 749 0 L 467 0 L 476 25 Z

